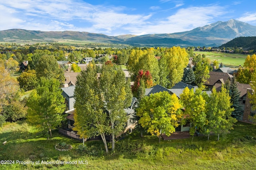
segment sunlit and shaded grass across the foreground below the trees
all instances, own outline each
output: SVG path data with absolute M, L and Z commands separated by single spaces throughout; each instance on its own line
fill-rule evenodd
M 38 129 L 24 121 L 7 123 L 0 129 L 0 160 L 14 160 L 11 165 L 0 169 L 256 169 L 256 125 L 238 122 L 234 130 L 225 137 L 192 137 L 158 143 L 156 136 L 144 135 L 137 131 L 116 142 L 116 152 L 105 155 L 101 141 L 81 142 L 53 132 L 47 140 Z M 54 149 L 57 143 L 72 145 L 70 151 Z M 80 148 L 80 149 L 79 149 Z M 20 161 L 39 161 L 37 165 L 16 164 Z M 74 164 L 44 164 L 42 161 L 74 161 Z M 84 163 L 81 164 L 82 160 Z M 75 164 L 76 161 L 76 164 Z M 79 164 L 80 162 L 80 164 Z

